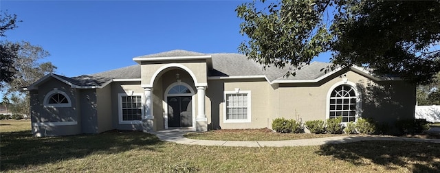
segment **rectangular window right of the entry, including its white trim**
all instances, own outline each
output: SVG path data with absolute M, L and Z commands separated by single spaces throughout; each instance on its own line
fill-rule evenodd
M 250 122 L 250 91 L 225 91 L 224 122 Z

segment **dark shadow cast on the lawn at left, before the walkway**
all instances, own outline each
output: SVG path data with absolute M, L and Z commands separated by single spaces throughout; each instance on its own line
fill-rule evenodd
M 98 135 L 67 137 L 33 137 L 30 131 L 1 133 L 1 171 L 18 170 L 28 165 L 41 165 L 89 154 L 117 154 L 128 150 L 153 150 L 164 142 L 154 135 L 139 131 L 112 130 Z

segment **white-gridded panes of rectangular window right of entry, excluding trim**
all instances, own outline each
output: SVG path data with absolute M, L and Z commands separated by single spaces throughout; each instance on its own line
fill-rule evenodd
M 226 94 L 226 119 L 248 119 L 248 93 Z

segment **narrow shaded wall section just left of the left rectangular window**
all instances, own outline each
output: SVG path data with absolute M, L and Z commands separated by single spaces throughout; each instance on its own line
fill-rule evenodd
M 111 122 L 111 84 L 102 89 L 96 89 L 97 111 L 98 111 L 98 132 L 113 129 Z

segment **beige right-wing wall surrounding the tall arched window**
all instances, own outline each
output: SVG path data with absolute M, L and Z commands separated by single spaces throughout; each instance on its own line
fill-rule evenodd
M 348 71 L 338 73 L 321 84 L 284 84 L 278 90 L 278 114 L 275 117 L 302 119 L 303 122 L 327 118 L 327 94 L 334 84 L 344 79 L 355 83 L 360 95 L 360 117 L 372 117 L 379 122 L 393 124 L 395 119 L 414 116 L 415 86 L 403 81 L 375 82 Z

